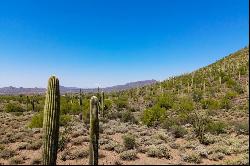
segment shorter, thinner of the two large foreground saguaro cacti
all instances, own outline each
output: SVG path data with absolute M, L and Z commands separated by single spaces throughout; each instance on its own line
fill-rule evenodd
M 99 101 L 96 96 L 90 99 L 90 143 L 89 165 L 98 165 L 98 139 L 99 139 Z

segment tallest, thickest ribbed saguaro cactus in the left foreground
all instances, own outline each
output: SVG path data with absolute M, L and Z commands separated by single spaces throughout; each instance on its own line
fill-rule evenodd
M 60 116 L 59 80 L 52 76 L 44 106 L 43 119 L 43 165 L 55 165 L 57 159 Z

